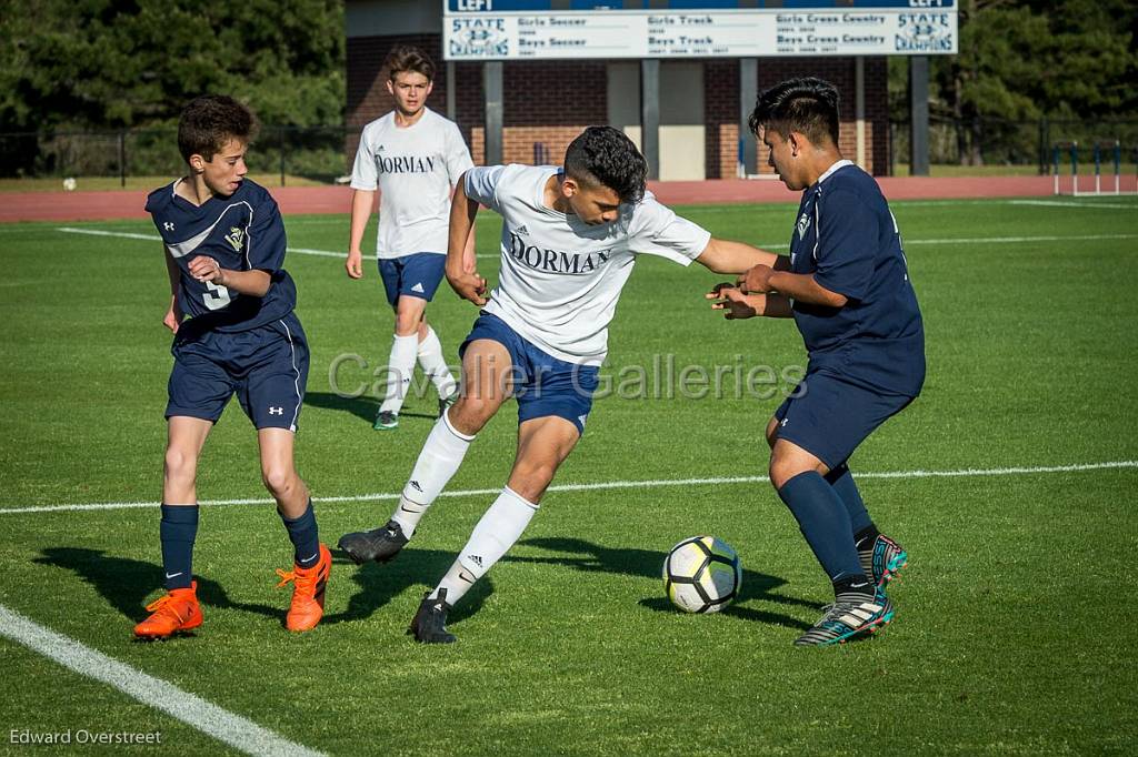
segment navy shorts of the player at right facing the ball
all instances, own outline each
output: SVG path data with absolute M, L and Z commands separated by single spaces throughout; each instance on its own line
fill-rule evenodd
M 874 392 L 832 373 L 807 372 L 792 397 L 775 410 L 778 439 L 801 447 L 833 471 L 873 431 L 913 401 Z

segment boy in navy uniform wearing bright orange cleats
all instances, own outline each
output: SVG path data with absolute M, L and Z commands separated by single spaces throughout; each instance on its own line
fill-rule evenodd
M 296 285 L 281 267 L 280 211 L 269 192 L 245 178 L 255 128 L 253 114 L 232 98 L 193 100 L 178 126 L 190 173 L 147 198 L 170 273 L 163 323 L 174 332 L 174 368 L 160 526 L 167 593 L 147 606 L 151 615 L 134 629 L 141 638 L 201 625 L 191 571 L 197 463 L 234 392 L 257 429 L 262 476 L 295 548 L 294 569 L 277 572 L 280 585 L 294 582 L 286 624 L 307 631 L 323 616 L 331 555 L 319 541 L 308 489 L 292 463 L 308 346 L 292 313 Z

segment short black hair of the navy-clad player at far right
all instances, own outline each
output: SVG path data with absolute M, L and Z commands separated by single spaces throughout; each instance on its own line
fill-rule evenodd
M 838 88 L 820 78 L 789 78 L 759 93 L 747 124 L 756 134 L 769 128 L 784 139 L 806 134 L 815 144 L 838 144 Z

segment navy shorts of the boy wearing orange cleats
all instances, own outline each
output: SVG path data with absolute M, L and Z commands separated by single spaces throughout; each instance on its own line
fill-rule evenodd
M 294 314 L 248 331 L 195 331 L 174 336 L 166 417 L 217 422 L 237 392 L 257 429 L 296 431 L 308 380 L 308 342 Z

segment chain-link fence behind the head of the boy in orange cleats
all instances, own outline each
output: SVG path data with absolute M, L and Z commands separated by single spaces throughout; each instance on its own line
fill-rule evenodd
M 247 163 L 250 173 L 332 183 L 351 173 L 360 130 L 347 126 L 263 126 Z M 351 149 L 351 153 L 349 153 Z M 119 132 L 0 133 L 0 177 L 173 176 L 184 170 L 174 127 Z

